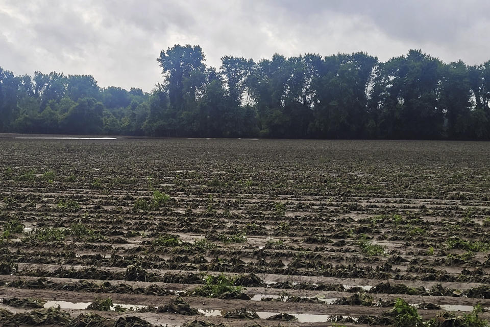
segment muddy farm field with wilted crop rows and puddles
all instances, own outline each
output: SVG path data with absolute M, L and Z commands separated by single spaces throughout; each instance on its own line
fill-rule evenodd
M 0 325 L 490 319 L 489 157 L 478 142 L 0 136 Z

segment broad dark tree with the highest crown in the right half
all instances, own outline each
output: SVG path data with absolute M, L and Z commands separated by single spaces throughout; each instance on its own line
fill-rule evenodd
M 442 63 L 410 50 L 382 65 L 386 84 L 381 99 L 379 128 L 383 138 L 437 139 L 444 131 L 444 113 L 438 105 Z

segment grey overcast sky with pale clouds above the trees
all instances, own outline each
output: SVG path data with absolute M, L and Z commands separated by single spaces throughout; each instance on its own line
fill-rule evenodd
M 0 0 L 0 66 L 91 74 L 102 87 L 162 80 L 156 57 L 199 44 L 223 55 L 365 51 L 385 61 L 422 51 L 445 62 L 490 60 L 488 0 Z

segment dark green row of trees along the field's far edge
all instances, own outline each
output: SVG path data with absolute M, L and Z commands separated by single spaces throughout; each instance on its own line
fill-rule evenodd
M 490 139 L 490 60 L 449 64 L 420 50 L 206 66 L 199 45 L 157 58 L 151 92 L 101 88 L 91 75 L 0 67 L 0 132 L 166 137 Z

